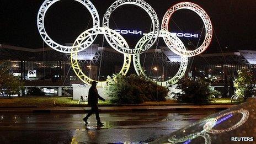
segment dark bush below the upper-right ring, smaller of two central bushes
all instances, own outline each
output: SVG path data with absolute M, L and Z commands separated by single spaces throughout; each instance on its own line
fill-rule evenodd
M 212 82 L 213 79 L 206 78 L 182 79 L 177 86 L 182 92 L 175 93 L 175 98 L 182 103 L 209 103 L 212 97 L 220 95 L 220 92 L 210 87 Z

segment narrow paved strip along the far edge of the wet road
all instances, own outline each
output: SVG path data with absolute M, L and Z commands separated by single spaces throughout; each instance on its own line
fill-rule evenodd
M 221 105 L 132 105 L 132 106 L 99 106 L 100 113 L 127 111 L 178 111 L 178 110 L 225 110 L 237 104 Z M 0 108 L 0 113 L 84 113 L 89 107 L 54 107 L 54 108 Z

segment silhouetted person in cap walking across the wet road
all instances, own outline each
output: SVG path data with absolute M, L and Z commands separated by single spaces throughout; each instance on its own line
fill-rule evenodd
M 87 120 L 90 117 L 90 115 L 92 115 L 93 113 L 95 113 L 96 115 L 96 119 L 97 119 L 97 125 L 98 126 L 102 126 L 103 123 L 100 121 L 99 118 L 99 109 L 98 109 L 98 99 L 105 101 L 104 98 L 100 97 L 100 95 L 98 94 L 98 90 L 96 88 L 97 86 L 96 81 L 92 82 L 92 87 L 90 87 L 89 89 L 89 93 L 88 93 L 88 105 L 92 108 L 89 113 L 86 115 L 86 117 L 83 118 L 83 121 L 86 122 L 86 124 L 88 124 Z

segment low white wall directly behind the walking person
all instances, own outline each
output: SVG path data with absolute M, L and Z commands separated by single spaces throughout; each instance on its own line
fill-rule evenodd
M 86 95 L 88 96 L 89 88 L 90 87 L 73 87 L 73 99 L 79 100 L 81 95 L 83 95 L 83 97 L 86 98 Z M 104 88 L 97 87 L 97 89 L 100 97 L 103 97 L 104 99 L 108 99 L 103 93 Z

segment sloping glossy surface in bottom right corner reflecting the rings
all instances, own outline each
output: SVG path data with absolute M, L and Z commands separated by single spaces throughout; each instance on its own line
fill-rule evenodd
M 183 127 L 152 143 L 256 143 L 256 99 Z M 233 138 L 232 138 L 233 137 Z

